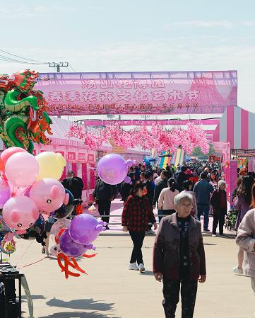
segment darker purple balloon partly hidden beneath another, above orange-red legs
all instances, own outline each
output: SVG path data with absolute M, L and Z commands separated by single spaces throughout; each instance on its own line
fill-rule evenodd
M 71 239 L 68 229 L 59 238 L 59 249 L 69 257 L 81 256 L 87 251 L 85 244 L 78 244 Z

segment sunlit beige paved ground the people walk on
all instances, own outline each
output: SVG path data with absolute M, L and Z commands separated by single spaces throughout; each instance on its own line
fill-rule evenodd
M 113 213 L 119 213 L 118 206 L 118 202 L 113 204 Z M 131 239 L 117 230 L 100 235 L 94 259 L 78 262 L 88 276 L 66 280 L 54 258 L 23 268 L 34 300 L 35 318 L 163 318 L 162 285 L 152 273 L 153 241 L 154 236 L 146 236 L 143 274 L 127 269 Z M 234 239 L 205 236 L 204 243 L 208 280 L 198 286 L 194 318 L 253 317 L 255 302 L 250 280 L 231 272 L 237 255 Z M 36 242 L 20 239 L 11 263 L 22 267 L 38 261 L 42 259 L 40 252 Z M 25 297 L 23 311 L 27 318 Z

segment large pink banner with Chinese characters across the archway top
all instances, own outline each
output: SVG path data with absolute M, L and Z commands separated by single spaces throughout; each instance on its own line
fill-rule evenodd
M 237 105 L 237 71 L 44 73 L 49 115 L 223 113 Z

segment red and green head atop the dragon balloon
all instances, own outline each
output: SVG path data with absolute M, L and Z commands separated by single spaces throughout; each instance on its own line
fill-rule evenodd
M 38 73 L 24 69 L 8 77 L 8 90 L 16 89 L 21 93 L 28 93 L 35 86 Z

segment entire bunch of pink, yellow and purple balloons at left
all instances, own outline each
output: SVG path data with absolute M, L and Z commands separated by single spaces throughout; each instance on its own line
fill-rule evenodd
M 58 257 L 61 270 L 69 278 L 85 273 L 75 258 L 96 255 L 85 252 L 95 250 L 93 242 L 105 230 L 106 223 L 85 214 L 77 215 L 72 221 L 66 219 L 82 200 L 73 198 L 58 181 L 64 166 L 64 157 L 54 152 L 42 152 L 34 157 L 23 148 L 4 150 L 0 157 L 0 209 L 11 233 L 1 239 L 1 247 L 7 254 L 15 251 L 15 234 L 22 239 L 36 239 L 44 245 L 45 221 L 54 217 L 57 222 L 51 233 L 56 245 L 51 254 Z M 73 273 L 69 266 L 80 273 Z

